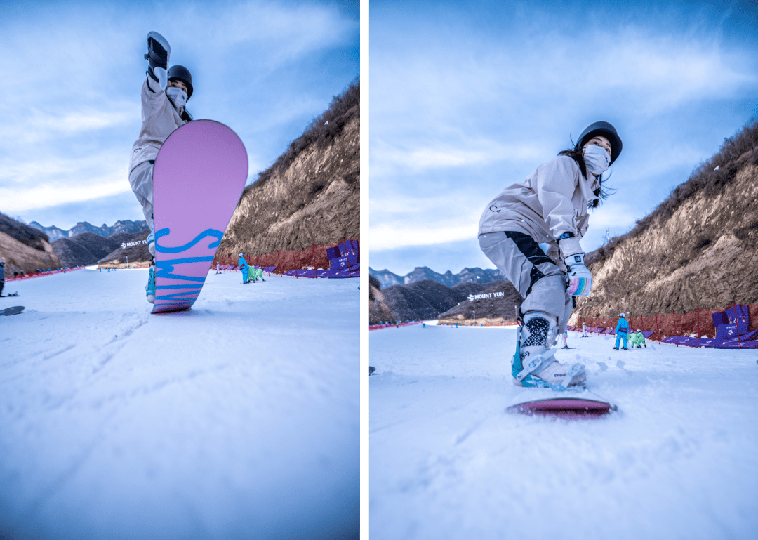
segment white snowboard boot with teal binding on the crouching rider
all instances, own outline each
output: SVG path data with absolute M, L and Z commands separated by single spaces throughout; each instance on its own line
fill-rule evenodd
M 511 361 L 513 384 L 532 388 L 565 390 L 587 379 L 584 366 L 559 363 L 553 344 L 558 337 L 556 318 L 544 312 L 529 312 L 518 326 L 516 352 Z

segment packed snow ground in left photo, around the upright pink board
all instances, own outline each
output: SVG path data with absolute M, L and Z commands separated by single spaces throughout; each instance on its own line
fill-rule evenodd
M 7 283 L 0 538 L 357 538 L 358 280 L 265 279 L 164 315 L 146 270 Z

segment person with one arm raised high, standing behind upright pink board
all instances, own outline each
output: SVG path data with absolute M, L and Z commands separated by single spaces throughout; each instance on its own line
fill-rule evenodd
M 142 87 L 142 127 L 139 138 L 132 146 L 129 163 L 129 184 L 143 207 L 145 221 L 150 228 L 148 250 L 155 258 L 155 225 L 152 212 L 152 171 L 158 150 L 177 127 L 192 121 L 186 111 L 187 100 L 192 97 L 192 74 L 184 66 L 168 68 L 171 46 L 157 32 L 147 35 L 145 55 L 149 67 Z M 168 70 L 168 71 L 167 71 Z M 155 302 L 155 259 L 150 263 L 150 274 L 145 287 L 149 303 Z

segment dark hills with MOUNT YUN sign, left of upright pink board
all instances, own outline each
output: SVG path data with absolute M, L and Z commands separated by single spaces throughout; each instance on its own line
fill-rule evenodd
M 105 262 L 148 262 L 150 259 L 144 240 L 150 234 L 149 229 L 136 233 L 116 233 L 102 237 L 93 232 L 84 232 L 70 238 L 59 238 L 52 243 L 52 249 L 67 266 L 94 265 Z M 133 243 L 133 246 L 127 244 Z M 122 246 L 124 244 L 124 246 Z M 121 260 L 124 256 L 124 260 Z M 118 264 L 118 263 L 114 263 Z

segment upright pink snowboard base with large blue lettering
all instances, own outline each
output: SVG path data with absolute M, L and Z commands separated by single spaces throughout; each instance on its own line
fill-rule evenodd
M 247 152 L 229 127 L 184 124 L 161 146 L 153 171 L 153 313 L 197 300 L 247 180 Z

